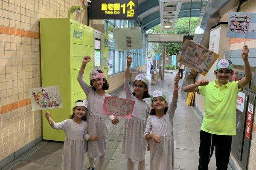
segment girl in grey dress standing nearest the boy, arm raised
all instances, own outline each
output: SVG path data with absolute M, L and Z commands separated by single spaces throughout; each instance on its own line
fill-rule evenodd
M 169 109 L 161 91 L 156 90 L 151 96 L 152 109 L 144 133 L 145 139 L 151 140 L 150 170 L 174 170 L 173 116 L 177 108 L 179 80 L 177 73 Z

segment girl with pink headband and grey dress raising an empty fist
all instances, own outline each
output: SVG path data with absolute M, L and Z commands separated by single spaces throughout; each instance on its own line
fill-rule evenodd
M 83 79 L 83 74 L 87 62 L 91 60 L 91 57 L 85 56 L 77 80 L 81 85 L 84 93 L 87 96 L 88 112 L 86 114 L 86 119 L 88 123 L 88 134 L 99 136 L 98 141 L 88 142 L 88 158 L 90 163 L 90 169 L 94 170 L 94 158 L 99 158 L 97 170 L 105 170 L 104 163 L 106 158 L 106 144 L 108 137 L 108 127 L 106 124 L 105 117 L 102 114 L 103 103 L 105 97 L 111 96 L 105 92 L 108 90 L 108 82 L 105 79 L 104 74 L 100 70 L 93 70 L 90 72 L 90 86 Z M 116 125 L 119 119 L 112 115 L 108 115 L 108 119 Z

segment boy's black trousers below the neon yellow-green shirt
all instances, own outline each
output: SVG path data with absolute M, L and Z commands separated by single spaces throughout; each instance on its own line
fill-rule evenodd
M 208 164 L 215 147 L 216 170 L 227 170 L 231 151 L 232 136 L 200 132 L 198 170 L 208 170 Z

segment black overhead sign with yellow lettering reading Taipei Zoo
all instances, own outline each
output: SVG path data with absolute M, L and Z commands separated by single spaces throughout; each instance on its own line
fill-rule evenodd
M 138 0 L 94 0 L 89 6 L 90 19 L 137 20 Z

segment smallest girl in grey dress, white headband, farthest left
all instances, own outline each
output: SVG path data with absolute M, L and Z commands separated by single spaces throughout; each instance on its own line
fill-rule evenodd
M 71 119 L 60 123 L 55 123 L 48 111 L 45 113 L 45 118 L 48 119 L 52 128 L 65 132 L 61 170 L 82 170 L 84 152 L 87 151 L 87 142 L 84 139 L 98 140 L 98 136 L 87 134 L 87 122 L 85 122 L 87 105 L 87 100 L 78 100 L 73 107 Z

